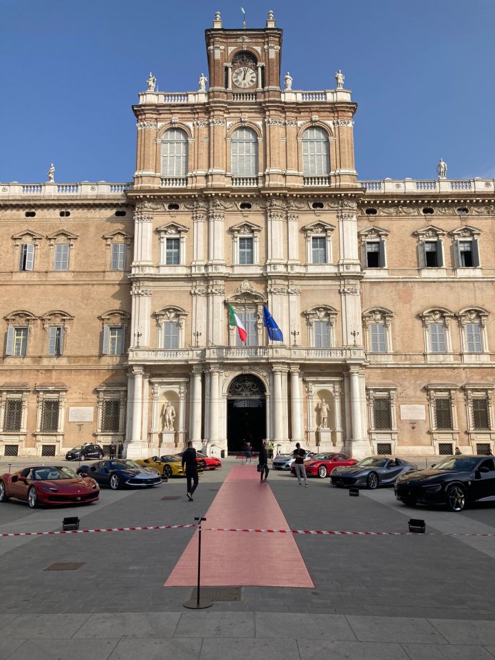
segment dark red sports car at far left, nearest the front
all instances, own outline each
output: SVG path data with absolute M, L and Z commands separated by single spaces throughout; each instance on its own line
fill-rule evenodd
M 90 477 L 80 477 L 70 467 L 24 467 L 0 476 L 0 502 L 11 497 L 27 501 L 32 509 L 42 505 L 86 504 L 98 500 L 100 487 Z

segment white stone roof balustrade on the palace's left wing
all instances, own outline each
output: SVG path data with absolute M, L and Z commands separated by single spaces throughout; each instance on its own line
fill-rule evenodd
M 130 183 L 108 183 L 107 181 L 81 181 L 77 184 L 47 181 L 43 184 L 0 184 L 1 199 L 89 199 L 91 197 L 122 197 L 125 190 L 130 190 Z

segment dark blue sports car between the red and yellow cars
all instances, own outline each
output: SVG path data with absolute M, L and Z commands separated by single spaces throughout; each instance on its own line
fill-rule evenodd
M 128 459 L 81 465 L 78 474 L 91 476 L 100 486 L 110 486 L 112 490 L 123 486 L 155 486 L 162 483 L 162 475 L 154 467 L 141 467 Z

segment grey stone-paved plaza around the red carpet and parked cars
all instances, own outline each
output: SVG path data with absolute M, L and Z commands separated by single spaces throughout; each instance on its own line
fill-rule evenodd
M 31 511 L 11 501 L 1 505 L 0 531 L 61 529 L 73 515 L 81 529 L 190 523 L 206 514 L 233 465 L 227 459 L 204 474 L 194 503 L 181 479 L 139 492 L 104 489 L 99 503 L 80 509 Z M 414 517 L 426 520 L 427 534 L 296 535 L 315 588 L 245 586 L 239 602 L 199 611 L 183 607 L 189 587 L 163 586 L 192 528 L 0 538 L 0 660 L 495 657 L 495 537 L 447 536 L 495 533 L 493 506 L 409 509 L 391 489 L 356 498 L 328 479 L 307 489 L 287 473 L 269 479 L 262 487 L 293 529 L 404 532 Z M 265 561 L 277 571 L 278 558 Z M 83 566 L 44 570 L 54 562 Z M 246 563 L 256 575 L 259 562 L 239 556 Z

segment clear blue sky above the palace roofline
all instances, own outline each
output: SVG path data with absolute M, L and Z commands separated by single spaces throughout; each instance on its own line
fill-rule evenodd
M 151 70 L 160 91 L 197 89 L 204 30 L 283 28 L 293 89 L 358 102 L 360 179 L 495 176 L 494 0 L 0 0 L 0 181 L 131 181 L 131 105 Z M 208 75 L 208 74 L 207 74 Z

